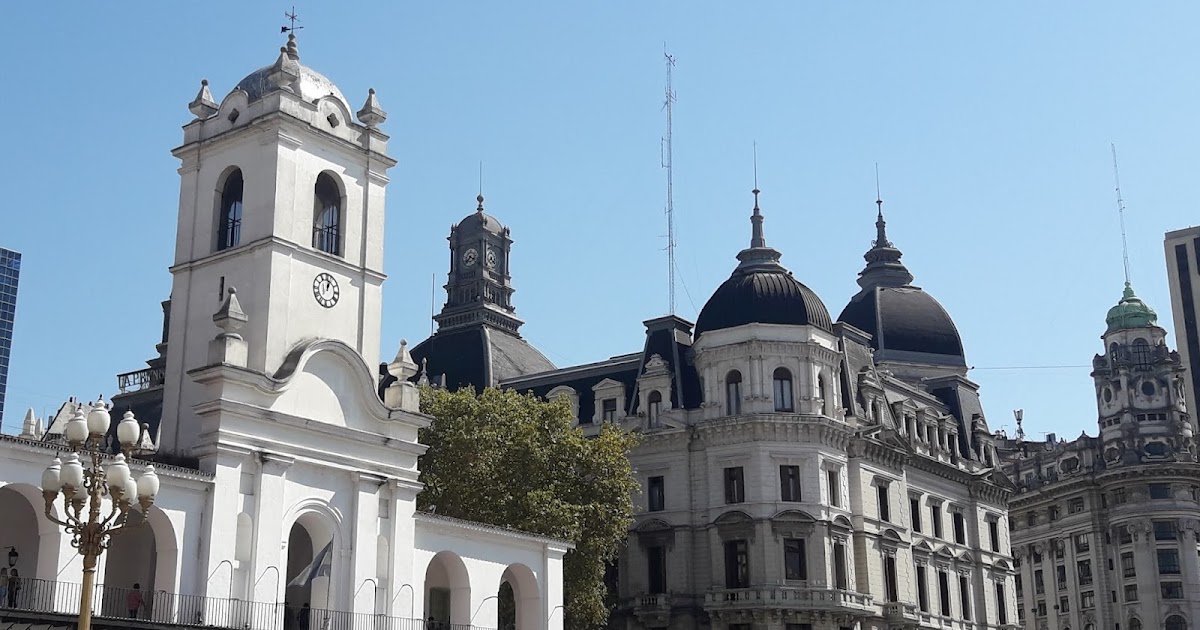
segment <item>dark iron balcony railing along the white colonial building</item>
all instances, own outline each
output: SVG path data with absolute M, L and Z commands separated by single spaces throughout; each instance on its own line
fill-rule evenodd
M 79 613 L 83 584 L 48 580 L 20 580 L 18 584 L 14 593 L 10 592 L 8 598 L 0 601 L 0 619 L 70 625 Z M 299 608 L 282 602 L 181 595 L 164 590 L 140 593 L 131 599 L 132 593 L 128 588 L 96 584 L 92 625 L 154 624 L 230 630 L 484 630 L 474 625 L 385 614 Z M 140 605 L 137 605 L 138 601 Z

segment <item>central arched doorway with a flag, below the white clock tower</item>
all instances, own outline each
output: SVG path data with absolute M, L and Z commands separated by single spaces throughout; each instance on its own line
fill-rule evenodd
M 286 628 L 319 628 L 324 618 L 312 617 L 308 610 L 332 607 L 334 556 L 334 528 L 329 521 L 317 512 L 301 514 L 288 532 L 288 563 L 283 574 L 287 580 L 283 592 L 288 611 Z

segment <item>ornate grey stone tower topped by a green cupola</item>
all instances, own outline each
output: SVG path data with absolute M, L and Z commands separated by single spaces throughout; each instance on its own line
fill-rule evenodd
M 1105 352 L 1092 360 L 1106 464 L 1195 461 L 1183 361 L 1168 348 L 1158 314 L 1126 282 L 1106 323 Z

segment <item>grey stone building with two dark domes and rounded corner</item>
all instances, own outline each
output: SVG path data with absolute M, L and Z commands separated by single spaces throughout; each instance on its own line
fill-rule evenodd
M 584 432 L 642 436 L 618 623 L 1015 628 L 1012 486 L 954 323 L 882 214 L 863 290 L 833 320 L 767 245 L 758 196 L 695 325 L 649 319 L 640 352 L 502 382 L 565 397 Z

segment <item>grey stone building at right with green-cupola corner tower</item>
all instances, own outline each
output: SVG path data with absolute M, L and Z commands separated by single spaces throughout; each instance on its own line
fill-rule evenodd
M 1178 319 L 1177 319 L 1178 322 Z M 1092 360 L 1098 434 L 998 439 L 1030 630 L 1200 623 L 1200 463 L 1188 370 L 1126 283 Z

